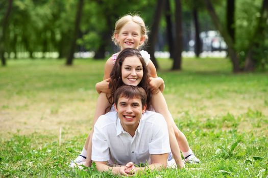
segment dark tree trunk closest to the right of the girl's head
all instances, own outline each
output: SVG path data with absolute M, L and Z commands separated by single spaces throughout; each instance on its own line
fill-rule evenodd
M 161 13 L 162 13 L 162 9 L 164 6 L 164 2 L 165 0 L 157 1 L 155 15 L 153 18 L 152 29 L 151 29 L 151 33 L 149 35 L 149 40 L 148 40 L 149 47 L 147 48 L 149 54 L 151 55 L 151 61 L 154 63 L 156 69 L 158 69 L 158 64 L 157 64 L 157 61 L 155 60 L 155 43 L 157 39 L 158 26 L 160 23 L 160 18 L 161 18 Z

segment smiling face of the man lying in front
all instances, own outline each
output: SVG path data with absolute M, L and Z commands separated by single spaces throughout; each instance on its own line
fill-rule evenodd
M 141 114 L 145 112 L 146 106 L 141 105 L 140 98 L 125 98 L 120 97 L 115 105 L 115 110 L 118 112 L 121 125 L 124 130 L 137 129 Z

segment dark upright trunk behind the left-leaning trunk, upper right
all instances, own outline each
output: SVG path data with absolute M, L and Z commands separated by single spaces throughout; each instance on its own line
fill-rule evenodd
M 234 26 L 235 0 L 227 0 L 227 31 L 235 43 L 235 26 Z

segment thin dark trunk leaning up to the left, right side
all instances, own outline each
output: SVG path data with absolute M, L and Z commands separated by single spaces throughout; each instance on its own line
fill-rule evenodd
M 234 43 L 230 35 L 227 33 L 226 29 L 223 27 L 223 25 L 220 23 L 220 20 L 218 19 L 218 16 L 211 4 L 210 0 L 204 1 L 206 4 L 206 8 L 208 10 L 208 13 L 217 28 L 217 30 L 221 33 L 222 37 L 224 38 L 226 44 L 228 45 L 228 54 L 230 55 L 232 66 L 233 66 L 233 72 L 240 72 L 239 68 L 239 58 L 236 53 L 236 50 L 234 48 Z

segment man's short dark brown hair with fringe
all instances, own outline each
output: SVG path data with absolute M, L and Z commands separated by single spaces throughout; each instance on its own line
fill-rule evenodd
M 114 103 L 117 106 L 120 97 L 125 98 L 140 98 L 142 107 L 147 102 L 147 94 L 140 86 L 123 85 L 120 86 L 114 93 Z

